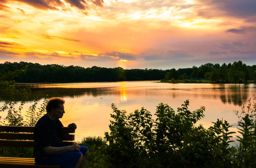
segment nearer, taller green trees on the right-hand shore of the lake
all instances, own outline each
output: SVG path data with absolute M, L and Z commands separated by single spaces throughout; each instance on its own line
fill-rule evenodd
M 170 79 L 190 79 L 190 80 L 210 80 L 215 83 L 247 83 L 248 80 L 256 81 L 256 65 L 246 65 L 241 60 L 225 64 L 206 63 L 200 67 L 193 66 L 191 74 L 180 75 L 177 70 L 172 69 L 166 73 L 164 80 Z

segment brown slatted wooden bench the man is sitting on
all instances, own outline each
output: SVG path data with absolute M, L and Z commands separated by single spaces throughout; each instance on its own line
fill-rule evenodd
M 34 127 L 0 126 L 0 146 L 5 147 L 34 147 Z M 74 131 L 62 127 L 63 145 L 74 145 Z M 61 168 L 60 165 L 38 165 L 34 158 L 0 157 L 0 168 Z

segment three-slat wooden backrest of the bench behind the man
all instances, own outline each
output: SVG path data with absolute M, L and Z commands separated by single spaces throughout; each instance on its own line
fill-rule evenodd
M 63 145 L 74 145 L 74 131 L 69 127 L 62 127 Z M 34 127 L 28 126 L 0 126 L 0 146 L 34 147 Z

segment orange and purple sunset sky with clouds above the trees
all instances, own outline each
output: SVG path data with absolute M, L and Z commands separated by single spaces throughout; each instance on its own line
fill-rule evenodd
M 256 0 L 0 0 L 0 63 L 256 64 Z

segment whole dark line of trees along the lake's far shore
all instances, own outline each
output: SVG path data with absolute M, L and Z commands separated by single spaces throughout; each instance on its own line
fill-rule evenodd
M 242 61 L 212 64 L 206 63 L 199 67 L 159 69 L 123 69 L 93 66 L 64 66 L 58 64 L 41 65 L 27 62 L 5 62 L 0 64 L 0 74 L 26 69 L 26 73 L 18 74 L 14 80 L 20 83 L 39 82 L 94 82 L 94 81 L 124 81 L 124 80 L 160 80 L 160 79 L 210 79 L 213 82 L 238 83 L 256 79 L 256 65 L 247 66 Z

